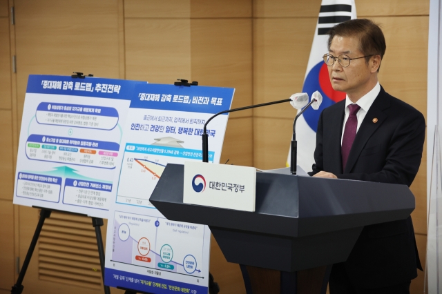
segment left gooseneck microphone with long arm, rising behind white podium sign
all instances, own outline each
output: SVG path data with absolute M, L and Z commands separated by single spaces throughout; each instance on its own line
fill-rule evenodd
M 273 104 L 280 104 L 280 103 L 284 103 L 284 102 L 290 102 L 291 106 L 293 106 L 294 108 L 299 110 L 302 107 L 304 107 L 308 101 L 309 101 L 309 95 L 307 93 L 296 93 L 294 95 L 291 95 L 291 97 L 289 99 L 278 100 L 278 101 L 262 103 L 262 104 L 256 104 L 256 105 L 251 105 L 251 106 L 244 106 L 244 107 L 240 107 L 240 108 L 233 108 L 230 110 L 223 110 L 223 111 L 216 113 L 211 118 L 207 119 L 206 124 L 204 124 L 204 130 L 202 133 L 202 162 L 209 162 L 209 135 L 207 135 L 207 124 L 209 124 L 209 121 L 211 121 L 215 117 L 218 117 L 218 115 L 222 115 L 223 113 L 229 113 L 229 112 L 235 112 L 235 111 L 240 111 L 240 110 L 262 107 L 262 106 L 269 106 L 269 105 L 273 105 Z

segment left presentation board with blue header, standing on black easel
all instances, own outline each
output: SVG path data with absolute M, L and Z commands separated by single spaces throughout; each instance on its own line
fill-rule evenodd
M 107 218 L 122 126 L 137 83 L 30 75 L 14 204 Z

